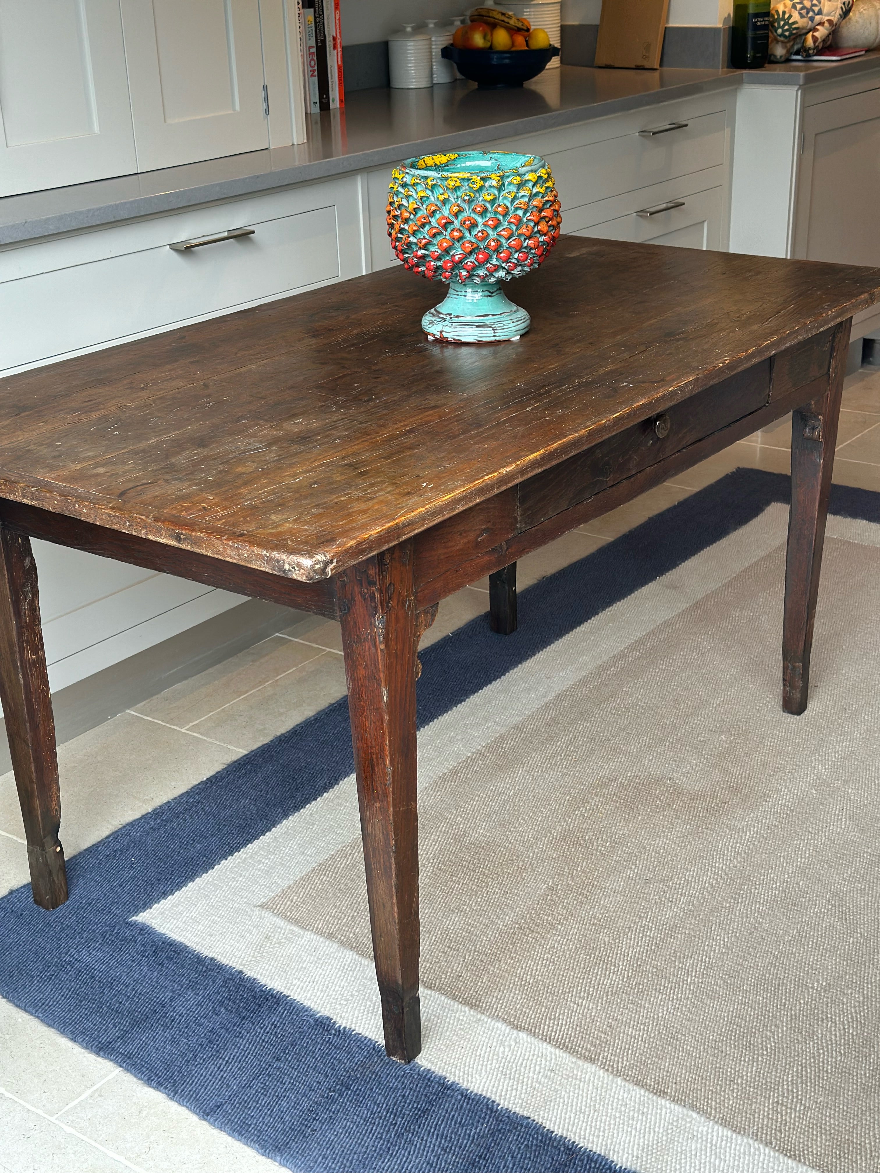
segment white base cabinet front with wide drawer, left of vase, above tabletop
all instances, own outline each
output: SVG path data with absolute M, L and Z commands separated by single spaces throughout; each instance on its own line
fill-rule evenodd
M 363 271 L 356 176 L 9 250 L 0 373 Z

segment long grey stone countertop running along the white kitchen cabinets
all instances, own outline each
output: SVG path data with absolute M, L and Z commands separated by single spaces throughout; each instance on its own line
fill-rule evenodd
M 142 216 L 383 167 L 429 151 L 554 130 L 689 97 L 764 82 L 805 84 L 880 66 L 880 53 L 837 66 L 736 69 L 547 70 L 522 89 L 478 90 L 472 82 L 433 89 L 365 89 L 344 114 L 310 115 L 309 142 L 230 155 L 161 171 L 123 175 L 0 199 L 0 245 L 100 228 Z

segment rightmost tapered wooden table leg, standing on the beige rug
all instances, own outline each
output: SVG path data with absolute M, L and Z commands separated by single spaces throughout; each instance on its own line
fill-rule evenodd
M 828 514 L 849 321 L 834 334 L 826 392 L 792 413 L 791 514 L 783 619 L 783 708 L 803 713 L 810 689 L 815 599 Z

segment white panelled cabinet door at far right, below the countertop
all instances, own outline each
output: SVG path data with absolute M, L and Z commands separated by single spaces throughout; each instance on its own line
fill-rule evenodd
M 794 256 L 880 265 L 880 89 L 807 107 Z

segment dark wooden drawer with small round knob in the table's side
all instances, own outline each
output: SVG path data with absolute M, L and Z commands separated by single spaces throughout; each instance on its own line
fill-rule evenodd
M 643 420 L 577 456 L 563 460 L 520 486 L 520 528 L 526 530 L 539 526 L 618 481 L 720 432 L 735 420 L 757 412 L 769 398 L 767 360 L 676 404 L 663 416 Z

